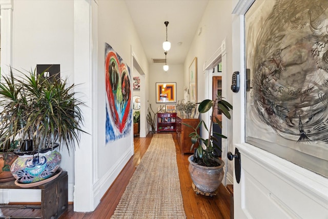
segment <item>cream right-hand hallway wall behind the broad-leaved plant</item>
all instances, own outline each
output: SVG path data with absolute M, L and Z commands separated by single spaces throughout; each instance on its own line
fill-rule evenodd
M 197 57 L 197 102 L 201 102 L 202 99 L 206 97 L 206 81 L 203 71 L 203 65 L 208 59 L 216 52 L 218 48 L 221 47 L 221 43 L 226 39 L 226 51 L 227 51 L 227 66 L 226 72 L 222 72 L 222 96 L 226 98 L 226 100 L 232 103 L 232 91 L 230 90 L 231 86 L 231 75 L 233 71 L 232 69 L 232 1 L 209 1 L 209 4 L 202 16 L 201 22 L 199 23 L 198 29 L 202 28 L 202 32 L 200 35 L 195 33 L 195 37 L 193 39 L 192 45 L 190 46 L 189 52 L 185 59 L 184 75 L 185 75 L 185 86 L 189 86 L 189 78 L 188 78 L 188 69 L 193 61 L 194 57 Z M 223 87 L 227 86 L 224 89 Z M 212 93 L 212 91 L 211 91 Z M 208 97 L 207 97 L 208 98 Z M 235 106 L 233 106 L 235 107 Z M 202 119 L 205 120 L 204 116 Z M 232 118 L 233 120 L 233 118 Z M 226 123 L 226 130 L 222 130 L 222 132 L 226 132 L 228 136 L 228 140 L 222 140 L 222 145 L 228 145 L 228 151 L 232 151 L 232 139 L 233 139 L 233 130 L 232 130 L 232 120 L 226 120 L 223 118 L 223 127 Z M 222 154 L 223 156 L 224 154 Z M 228 169 L 228 179 L 232 180 L 233 177 L 233 163 L 227 162 L 226 167 Z M 232 181 L 228 182 L 232 184 Z

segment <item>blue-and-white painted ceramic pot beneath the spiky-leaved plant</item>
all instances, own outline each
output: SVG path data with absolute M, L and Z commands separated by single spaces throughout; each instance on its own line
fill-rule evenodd
M 10 167 L 18 183 L 35 183 L 46 180 L 59 168 L 61 155 L 58 151 L 45 149 L 35 154 L 18 152 L 18 158 Z

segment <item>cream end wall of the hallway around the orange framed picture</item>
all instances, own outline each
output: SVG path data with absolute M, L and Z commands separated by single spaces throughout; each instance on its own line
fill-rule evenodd
M 148 103 L 151 104 L 154 112 L 157 112 L 157 107 L 165 105 L 165 103 L 156 103 L 156 82 L 176 82 L 176 102 L 183 99 L 183 66 L 169 65 L 169 70 L 165 72 L 162 64 L 152 64 L 149 68 L 149 83 L 147 92 L 149 94 Z M 176 104 L 176 103 L 170 103 Z M 155 120 L 157 121 L 157 120 Z M 155 123 L 157 127 L 157 123 Z M 151 127 L 149 127 L 151 128 Z

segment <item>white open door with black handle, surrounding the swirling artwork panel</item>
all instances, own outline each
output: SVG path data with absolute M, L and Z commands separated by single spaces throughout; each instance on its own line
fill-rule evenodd
M 240 0 L 233 11 L 233 41 L 240 46 L 233 47 L 232 66 L 240 71 L 240 82 L 245 82 L 244 14 L 253 2 Z M 241 164 L 240 182 L 234 177 L 234 218 L 328 218 L 328 178 L 245 143 L 244 95 L 240 83 L 232 115 Z

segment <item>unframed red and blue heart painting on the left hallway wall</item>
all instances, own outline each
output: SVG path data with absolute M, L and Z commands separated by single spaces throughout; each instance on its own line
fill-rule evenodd
M 130 67 L 105 43 L 106 143 L 130 134 L 132 124 Z

